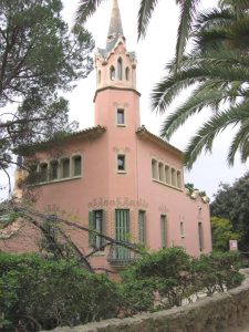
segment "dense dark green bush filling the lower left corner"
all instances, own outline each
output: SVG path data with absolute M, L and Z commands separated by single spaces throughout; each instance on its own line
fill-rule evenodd
M 75 325 L 116 314 L 117 287 L 104 274 L 89 273 L 74 261 L 0 255 L 0 317 L 4 331 Z

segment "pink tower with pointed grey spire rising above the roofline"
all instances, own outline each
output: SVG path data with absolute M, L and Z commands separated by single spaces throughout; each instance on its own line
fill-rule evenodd
M 136 55 L 126 50 L 117 0 L 113 1 L 105 49 L 95 53 L 95 125 L 139 127 Z

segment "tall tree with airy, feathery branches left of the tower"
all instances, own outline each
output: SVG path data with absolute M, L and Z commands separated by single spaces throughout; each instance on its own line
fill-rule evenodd
M 91 34 L 69 32 L 61 0 L 0 0 L 0 169 L 11 152 L 75 128 L 59 91 L 92 70 Z M 11 103 L 20 106 L 12 111 Z

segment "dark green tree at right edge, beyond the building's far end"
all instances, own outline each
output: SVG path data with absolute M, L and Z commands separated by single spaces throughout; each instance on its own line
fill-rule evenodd
M 221 184 L 210 205 L 212 217 L 227 218 L 235 231 L 242 231 L 239 249 L 249 250 L 249 173 L 234 185 Z

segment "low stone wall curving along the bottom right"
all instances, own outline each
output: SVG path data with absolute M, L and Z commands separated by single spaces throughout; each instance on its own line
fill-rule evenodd
M 231 332 L 248 324 L 249 270 L 242 284 L 222 294 L 205 298 L 186 307 L 155 313 L 143 313 L 123 320 L 113 319 L 54 332 Z

